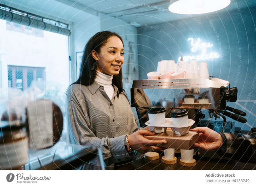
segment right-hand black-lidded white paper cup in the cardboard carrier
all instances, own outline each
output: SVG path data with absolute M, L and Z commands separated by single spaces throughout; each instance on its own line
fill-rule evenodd
M 175 109 L 171 111 L 172 125 L 188 125 L 188 112 L 186 109 Z

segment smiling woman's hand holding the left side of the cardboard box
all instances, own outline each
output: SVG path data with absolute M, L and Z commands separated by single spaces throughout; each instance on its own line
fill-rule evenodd
M 166 140 L 149 140 L 144 136 L 155 135 L 155 132 L 140 129 L 130 135 L 128 135 L 128 143 L 131 148 L 140 153 L 146 153 L 148 151 L 161 151 L 165 148 L 159 147 L 160 144 L 166 144 Z

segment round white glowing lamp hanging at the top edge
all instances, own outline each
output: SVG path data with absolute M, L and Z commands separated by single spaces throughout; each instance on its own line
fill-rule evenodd
M 180 14 L 202 14 L 218 11 L 229 4 L 230 0 L 171 0 L 169 11 Z

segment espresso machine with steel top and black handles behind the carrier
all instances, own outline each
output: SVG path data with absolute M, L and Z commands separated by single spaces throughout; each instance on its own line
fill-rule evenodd
M 195 97 L 194 101 L 186 102 L 191 95 Z M 223 119 L 223 121 L 215 122 L 217 124 L 213 129 L 217 132 L 232 132 L 224 131 L 227 123 L 225 116 L 238 122 L 247 122 L 242 117 L 246 115 L 245 112 L 227 106 L 227 102 L 236 102 L 237 88 L 231 88 L 228 81 L 219 78 L 134 80 L 131 88 L 131 106 L 136 108 L 140 127 L 145 127 L 147 110 L 153 102 L 157 103 L 156 97 L 161 97 L 163 100 L 173 97 L 172 102 L 163 105 L 169 111 L 166 113 L 166 118 L 170 117 L 172 109 L 185 108 L 190 112 L 190 119 L 195 120 L 194 127 L 210 128 L 211 123 L 203 120 L 205 110 L 208 110 L 210 118 Z M 207 97 L 205 100 L 208 101 L 200 102 L 200 97 Z

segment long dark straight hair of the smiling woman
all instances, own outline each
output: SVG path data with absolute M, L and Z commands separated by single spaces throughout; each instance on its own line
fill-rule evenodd
M 85 45 L 78 80 L 72 84 L 81 84 L 81 85 L 88 86 L 94 82 L 94 79 L 96 76 L 97 61 L 92 57 L 92 50 L 95 50 L 96 52 L 100 53 L 100 48 L 108 42 L 108 39 L 111 36 L 118 37 L 124 45 L 122 37 L 116 34 L 115 32 L 102 31 L 93 35 Z M 121 68 L 119 71 L 119 74 L 114 75 L 112 79 L 112 84 L 116 85 L 116 87 L 118 88 L 118 91 L 117 91 L 118 98 L 119 98 L 119 93 L 124 91 L 122 77 L 123 77 L 123 74 L 122 74 L 122 68 Z

